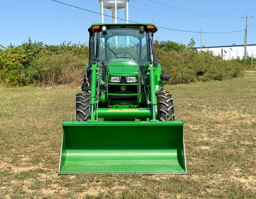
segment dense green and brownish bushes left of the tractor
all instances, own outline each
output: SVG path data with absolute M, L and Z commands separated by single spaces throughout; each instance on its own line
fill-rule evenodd
M 81 68 L 88 62 L 88 47 L 70 43 L 44 45 L 28 38 L 17 47 L 0 45 L 0 83 L 19 86 L 80 82 Z

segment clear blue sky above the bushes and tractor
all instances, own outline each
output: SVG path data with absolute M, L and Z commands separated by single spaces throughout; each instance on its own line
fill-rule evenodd
M 59 1 L 100 12 L 98 0 Z M 193 37 L 196 47 L 201 45 L 200 29 L 202 45 L 207 47 L 243 45 L 246 19 L 242 17 L 253 16 L 248 19 L 247 44 L 256 44 L 256 0 L 130 0 L 128 7 L 130 21 L 156 22 L 162 27 L 157 32 L 159 41 L 187 45 Z M 123 18 L 121 11 L 117 17 Z M 5 47 L 10 43 L 20 45 L 28 41 L 28 37 L 48 45 L 63 41 L 86 43 L 88 27 L 91 23 L 100 23 L 97 13 L 53 0 L 1 0 L 0 15 L 0 44 Z M 104 17 L 104 20 L 111 23 L 110 18 Z

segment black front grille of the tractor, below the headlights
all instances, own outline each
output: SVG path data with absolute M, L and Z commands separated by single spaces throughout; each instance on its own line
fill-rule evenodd
M 136 101 L 139 95 L 129 95 L 129 94 L 139 94 L 139 85 L 124 85 L 125 90 L 121 90 L 121 85 L 109 85 L 109 94 L 127 94 L 127 95 L 108 95 L 109 100 L 120 100 L 120 101 Z

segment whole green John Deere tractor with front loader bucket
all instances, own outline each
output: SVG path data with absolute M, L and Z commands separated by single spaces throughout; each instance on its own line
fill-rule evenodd
M 89 63 L 64 121 L 59 174 L 186 174 L 183 121 L 163 90 L 151 23 L 92 24 Z

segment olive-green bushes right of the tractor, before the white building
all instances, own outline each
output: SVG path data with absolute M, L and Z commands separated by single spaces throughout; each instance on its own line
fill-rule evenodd
M 211 52 L 183 49 L 166 52 L 155 48 L 155 52 L 162 66 L 162 72 L 170 74 L 169 84 L 189 83 L 196 81 L 224 80 L 232 77 L 244 76 L 244 65 L 236 60 L 222 60 L 214 57 Z

